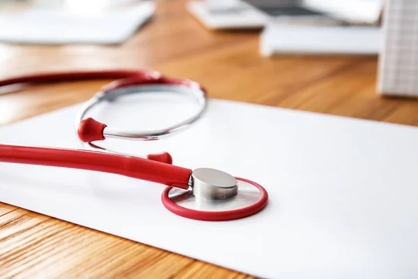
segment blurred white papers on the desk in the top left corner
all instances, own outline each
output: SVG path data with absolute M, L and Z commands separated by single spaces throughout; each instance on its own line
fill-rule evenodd
M 0 41 L 11 43 L 123 43 L 154 13 L 155 4 L 134 6 L 93 14 L 33 8 L 20 13 L 0 13 Z

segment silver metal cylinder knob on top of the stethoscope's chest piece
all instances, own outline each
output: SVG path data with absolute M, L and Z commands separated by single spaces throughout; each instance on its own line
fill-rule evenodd
M 198 199 L 228 199 L 238 193 L 235 177 L 218 169 L 194 169 L 191 186 L 193 195 Z

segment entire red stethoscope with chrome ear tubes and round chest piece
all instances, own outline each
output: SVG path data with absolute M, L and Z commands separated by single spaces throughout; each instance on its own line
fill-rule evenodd
M 84 103 L 75 117 L 77 134 L 84 146 L 100 151 L 0 144 L 0 162 L 87 169 L 161 183 L 168 186 L 162 193 L 164 206 L 179 216 L 196 220 L 234 220 L 258 213 L 266 206 L 267 191 L 253 181 L 218 169 L 191 170 L 172 165 L 172 158 L 167 152 L 127 156 L 93 143 L 107 137 L 159 140 L 189 126 L 206 110 L 206 91 L 196 82 L 164 77 L 152 70 L 105 70 L 26 75 L 0 80 L 0 86 L 105 78 L 118 80 L 103 86 Z M 199 112 L 176 125 L 158 130 L 123 130 L 85 118 L 88 111 L 101 102 L 131 93 L 161 91 L 191 96 L 199 104 Z

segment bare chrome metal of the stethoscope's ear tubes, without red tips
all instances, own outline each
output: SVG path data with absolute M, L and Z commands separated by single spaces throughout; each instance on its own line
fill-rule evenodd
M 86 114 L 95 105 L 98 105 L 99 103 L 103 101 L 114 100 L 115 98 L 125 96 L 128 94 L 134 94 L 134 93 L 167 92 L 167 91 L 172 92 L 173 94 L 183 94 L 183 95 L 190 96 L 190 98 L 196 100 L 197 105 L 199 105 L 199 111 L 193 116 L 189 117 L 189 119 L 186 119 L 185 121 L 181 121 L 180 123 L 176 123 L 173 126 L 169 126 L 163 129 L 135 130 L 135 128 L 133 128 L 132 130 L 123 130 L 123 129 L 118 129 L 118 128 L 106 127 L 104 128 L 104 131 L 103 131 L 104 137 L 119 137 L 119 138 L 124 138 L 127 140 L 142 140 L 142 141 L 159 140 L 161 137 L 170 135 L 171 133 L 174 133 L 178 130 L 186 128 L 190 124 L 194 123 L 194 121 L 198 120 L 201 117 L 201 115 L 206 109 L 206 95 L 205 95 L 205 92 L 201 91 L 200 89 L 190 88 L 190 87 L 183 86 L 183 85 L 160 85 L 160 84 L 122 87 L 119 89 L 114 89 L 107 93 L 99 92 L 98 94 L 93 96 L 93 98 L 91 98 L 86 103 L 84 103 L 82 108 L 77 113 L 77 116 L 75 117 L 74 125 L 75 125 L 76 133 L 77 133 L 79 123 L 85 118 Z M 93 147 L 95 149 L 102 149 L 104 151 L 108 151 L 111 153 L 121 153 L 118 151 L 112 151 L 111 149 L 107 149 L 107 148 L 98 146 L 97 144 L 93 144 L 93 143 L 83 143 L 83 144 L 87 148 Z

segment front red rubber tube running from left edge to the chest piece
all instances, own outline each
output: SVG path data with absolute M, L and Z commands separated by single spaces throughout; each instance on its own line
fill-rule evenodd
M 121 174 L 167 186 L 187 189 L 192 170 L 143 158 L 98 151 L 0 144 L 0 162 Z

